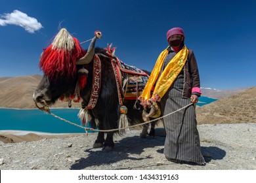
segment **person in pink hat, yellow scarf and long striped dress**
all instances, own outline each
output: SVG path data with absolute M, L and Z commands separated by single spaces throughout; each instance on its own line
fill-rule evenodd
M 141 105 L 161 110 L 166 131 L 163 154 L 169 161 L 205 165 L 196 121 L 200 76 L 194 52 L 184 44 L 184 31 L 167 31 L 169 46 L 161 52 L 140 95 Z

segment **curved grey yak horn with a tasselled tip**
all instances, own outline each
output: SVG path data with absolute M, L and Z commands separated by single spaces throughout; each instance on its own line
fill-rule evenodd
M 93 37 L 93 40 L 91 41 L 89 48 L 87 50 L 87 53 L 82 58 L 78 59 L 75 64 L 76 65 L 84 65 L 88 64 L 93 60 L 93 56 L 95 55 L 95 42 L 96 39 L 101 38 L 101 32 L 95 31 L 95 37 Z

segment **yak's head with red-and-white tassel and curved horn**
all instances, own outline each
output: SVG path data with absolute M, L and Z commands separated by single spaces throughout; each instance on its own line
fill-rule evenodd
M 93 60 L 95 41 L 100 37 L 100 31 L 95 31 L 95 37 L 86 52 L 77 39 L 66 29 L 61 29 L 53 43 L 41 54 L 39 67 L 44 75 L 33 93 L 33 101 L 45 101 L 47 105 L 53 105 L 60 97 L 74 95 L 77 69 Z

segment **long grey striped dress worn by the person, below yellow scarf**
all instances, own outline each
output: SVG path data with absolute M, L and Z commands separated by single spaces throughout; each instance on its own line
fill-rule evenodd
M 181 73 L 161 99 L 163 116 L 191 103 L 190 99 L 182 98 L 183 87 L 184 75 Z M 195 105 L 163 118 L 163 125 L 166 131 L 163 153 L 167 159 L 205 162 L 200 150 Z

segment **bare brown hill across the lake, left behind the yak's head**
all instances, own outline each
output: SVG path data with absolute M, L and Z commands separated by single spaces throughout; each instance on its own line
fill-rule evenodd
M 16 76 L 0 78 L 1 108 L 35 108 L 32 96 L 42 76 Z M 54 107 L 67 107 L 67 103 L 57 102 Z M 80 107 L 73 104 L 73 107 Z

